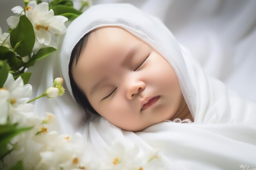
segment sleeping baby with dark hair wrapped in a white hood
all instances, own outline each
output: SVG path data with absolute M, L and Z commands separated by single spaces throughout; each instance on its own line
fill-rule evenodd
M 60 56 L 67 89 L 88 121 L 101 116 L 141 131 L 177 119 L 231 123 L 241 120 L 241 107 L 244 115 L 256 110 L 207 77 L 159 19 L 130 4 L 90 7 L 68 26 Z

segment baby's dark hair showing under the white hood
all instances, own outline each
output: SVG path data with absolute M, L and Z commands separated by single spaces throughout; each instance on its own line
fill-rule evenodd
M 91 106 L 90 102 L 88 101 L 88 98 L 83 93 L 83 91 L 76 85 L 76 82 L 74 81 L 74 78 L 72 76 L 72 64 L 74 61 L 77 64 L 79 57 L 81 56 L 81 53 L 83 49 L 85 49 L 85 46 L 87 44 L 88 38 L 90 37 L 90 33 L 87 33 L 79 40 L 79 42 L 74 47 L 71 57 L 70 57 L 70 63 L 68 65 L 68 75 L 70 77 L 70 85 L 72 89 L 72 93 L 74 95 L 74 98 L 76 102 L 85 110 L 85 121 L 92 121 L 95 116 L 99 116 L 99 113 L 94 110 L 94 108 Z

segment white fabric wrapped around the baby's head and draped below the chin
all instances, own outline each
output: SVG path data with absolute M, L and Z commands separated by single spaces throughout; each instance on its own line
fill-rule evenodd
M 103 118 L 89 125 L 79 124 L 83 111 L 68 93 L 69 55 L 85 33 L 103 25 L 124 27 L 148 42 L 168 60 L 180 81 L 194 123 L 162 122 L 136 133 L 121 130 Z M 160 148 L 164 163 L 170 170 L 240 169 L 241 163 L 256 168 L 256 104 L 228 90 L 217 79 L 205 75 L 189 51 L 175 40 L 157 18 L 129 4 L 94 6 L 68 27 L 59 56 L 61 73 L 68 91 L 59 99 L 43 99 L 35 106 L 38 110 L 47 104 L 52 106 L 48 107 L 52 109 L 48 111 L 53 111 L 65 122 L 62 124 L 63 131 L 72 129 L 82 132 L 85 140 L 92 142 L 99 155 L 114 139 L 120 139 L 136 142 L 142 152 Z M 43 72 L 42 79 L 48 77 L 53 80 L 59 76 L 59 67 L 54 65 L 56 63 L 56 57 L 46 62 L 48 70 Z M 41 87 L 46 87 L 50 81 L 40 82 L 45 83 L 40 84 Z M 39 88 L 37 92 L 40 94 L 43 91 L 44 88 Z

